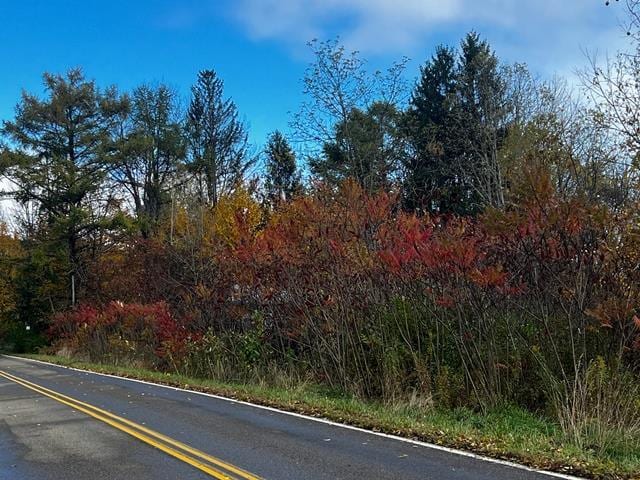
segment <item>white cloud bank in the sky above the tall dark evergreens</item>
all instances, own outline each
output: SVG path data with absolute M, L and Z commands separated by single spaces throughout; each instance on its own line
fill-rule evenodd
M 541 64 L 546 57 L 545 67 L 562 70 L 581 48 L 615 36 L 622 7 L 607 8 L 604 0 L 236 0 L 232 8 L 256 40 L 298 46 L 340 35 L 369 54 L 423 55 L 425 43 L 443 32 L 474 28 L 499 53 L 519 53 L 514 60 L 530 55 Z

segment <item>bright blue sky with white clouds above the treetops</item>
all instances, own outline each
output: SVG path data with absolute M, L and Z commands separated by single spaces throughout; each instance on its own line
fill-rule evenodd
M 381 67 L 406 55 L 408 76 L 438 43 L 470 29 L 506 61 L 571 75 L 584 50 L 624 44 L 623 5 L 604 0 L 0 0 L 0 119 L 44 71 L 81 66 L 102 86 L 165 82 L 185 99 L 214 68 L 256 144 L 301 101 L 311 38 L 340 35 Z

